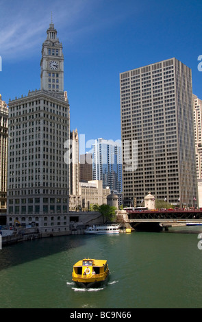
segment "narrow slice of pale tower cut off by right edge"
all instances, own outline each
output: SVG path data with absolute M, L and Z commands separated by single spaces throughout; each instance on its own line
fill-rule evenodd
M 199 190 L 199 207 L 202 207 L 202 101 L 193 95 L 194 132 L 197 164 L 197 184 Z

